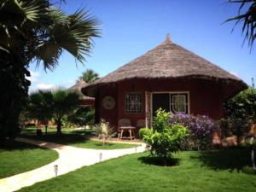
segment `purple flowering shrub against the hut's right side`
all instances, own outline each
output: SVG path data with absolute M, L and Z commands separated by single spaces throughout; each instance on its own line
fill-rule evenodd
M 169 125 L 181 124 L 189 130 L 189 137 L 183 141 L 184 149 L 208 149 L 212 147 L 212 135 L 217 129 L 214 120 L 206 115 L 171 114 Z

